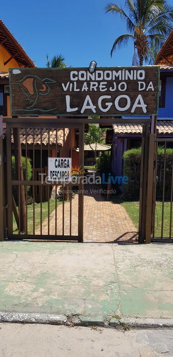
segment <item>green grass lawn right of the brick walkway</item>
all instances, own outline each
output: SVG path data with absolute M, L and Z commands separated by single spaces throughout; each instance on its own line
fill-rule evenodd
M 128 212 L 134 226 L 138 229 L 139 222 L 139 202 L 138 201 L 123 201 L 118 198 L 113 199 L 115 203 L 120 203 Z M 172 217 L 173 223 L 173 217 Z M 162 227 L 162 202 L 156 202 L 155 214 L 155 237 L 161 237 Z M 170 237 L 170 202 L 164 204 L 164 230 L 163 237 Z M 172 224 L 172 237 L 173 237 L 173 224 Z

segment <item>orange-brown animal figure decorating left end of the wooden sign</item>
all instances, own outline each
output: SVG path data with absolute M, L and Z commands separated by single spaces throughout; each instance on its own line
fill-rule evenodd
M 19 73 L 20 70 L 16 72 L 16 69 L 13 69 L 13 74 Z M 47 95 L 50 91 L 50 83 L 56 83 L 55 80 L 51 78 L 39 78 L 36 75 L 26 75 L 24 78 L 18 81 L 18 84 L 25 95 L 25 109 L 23 110 L 40 110 L 42 109 L 37 108 L 37 101 L 40 95 Z M 11 83 L 13 84 L 13 83 Z M 56 110 L 57 107 L 48 109 L 47 112 L 51 112 Z M 45 111 L 45 110 L 44 110 Z

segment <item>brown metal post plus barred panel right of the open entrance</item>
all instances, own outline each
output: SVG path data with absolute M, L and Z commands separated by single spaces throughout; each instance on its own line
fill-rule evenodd
M 139 242 L 173 242 L 173 139 L 143 127 Z

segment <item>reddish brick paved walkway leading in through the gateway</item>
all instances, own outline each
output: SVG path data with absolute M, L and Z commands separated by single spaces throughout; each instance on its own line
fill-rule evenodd
M 136 242 L 137 230 L 125 208 L 107 201 L 99 192 L 99 185 L 86 185 L 84 195 L 84 241 L 88 242 Z M 90 191 L 91 189 L 91 191 Z M 78 195 L 72 198 L 72 235 L 78 230 Z M 64 205 L 64 235 L 70 232 L 70 203 Z M 36 234 L 40 234 L 37 229 Z M 47 220 L 43 222 L 43 235 L 47 232 Z M 50 234 L 55 234 L 55 211 L 50 215 Z M 62 235 L 62 205 L 57 206 L 57 235 Z

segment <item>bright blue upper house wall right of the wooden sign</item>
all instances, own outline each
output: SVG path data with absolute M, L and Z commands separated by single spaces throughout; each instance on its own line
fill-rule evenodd
M 159 108 L 159 118 L 173 118 L 173 77 L 166 78 L 165 108 Z

